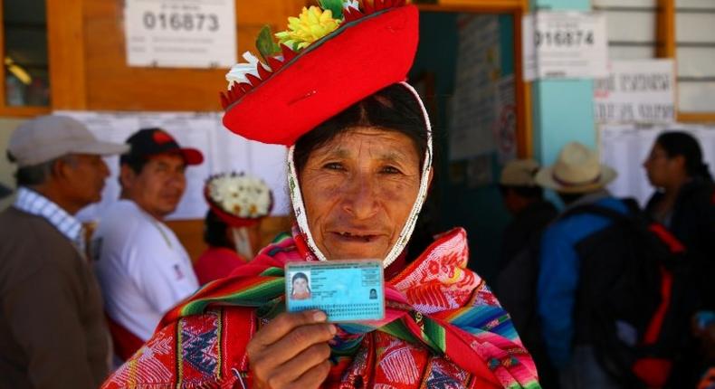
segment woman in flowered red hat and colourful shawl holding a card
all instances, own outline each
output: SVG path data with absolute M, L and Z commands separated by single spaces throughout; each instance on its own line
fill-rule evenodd
M 263 52 L 271 74 L 258 64 L 260 78 L 241 75 L 248 85 L 229 74 L 224 124 L 289 147 L 297 225 L 167 313 L 105 387 L 539 387 L 509 316 L 466 268 L 462 229 L 417 258 L 403 254 L 432 180 L 432 136 L 402 82 L 418 13 L 389 3 L 304 9 L 277 34 L 300 53 L 284 48 L 280 62 Z M 321 29 L 327 36 L 308 36 Z M 280 313 L 286 262 L 359 258 L 384 259 L 383 320 L 337 326 L 319 311 Z

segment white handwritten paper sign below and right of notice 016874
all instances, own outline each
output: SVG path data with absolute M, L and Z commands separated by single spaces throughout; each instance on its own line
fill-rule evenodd
M 675 72 L 672 60 L 616 61 L 611 75 L 596 80 L 596 121 L 672 123 L 675 121 Z

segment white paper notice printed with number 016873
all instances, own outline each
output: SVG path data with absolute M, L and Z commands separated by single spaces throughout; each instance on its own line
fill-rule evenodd
M 235 15 L 234 0 L 124 0 L 129 66 L 231 67 Z

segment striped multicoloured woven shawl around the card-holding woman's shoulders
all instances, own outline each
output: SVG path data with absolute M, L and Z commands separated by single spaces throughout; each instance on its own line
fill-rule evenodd
M 295 249 L 292 249 L 292 248 Z M 283 264 L 306 261 L 300 234 L 284 235 L 234 276 L 216 280 L 169 311 L 158 328 L 209 308 L 255 307 L 272 318 L 283 310 Z M 434 242 L 386 282 L 386 318 L 342 324 L 332 345 L 334 360 L 352 359 L 364 334 L 378 331 L 446 356 L 472 375 L 489 376 L 505 388 L 539 388 L 536 367 L 481 278 L 468 270 L 466 233 L 456 229 Z

